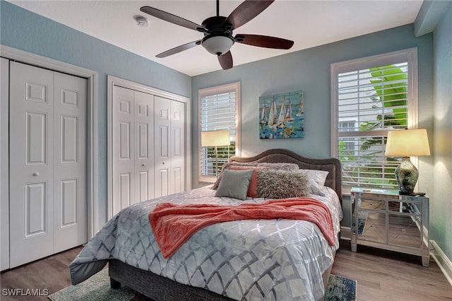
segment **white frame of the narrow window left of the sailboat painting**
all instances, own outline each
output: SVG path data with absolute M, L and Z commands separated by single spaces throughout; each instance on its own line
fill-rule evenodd
M 202 88 L 198 90 L 198 182 L 210 182 L 216 181 L 216 177 L 201 175 L 202 167 L 202 146 L 201 146 L 201 100 L 204 97 L 210 95 L 218 95 L 222 93 L 235 93 L 235 154 L 240 155 L 242 153 L 242 138 L 241 138 L 241 85 L 240 82 L 227 83 L 225 85 L 217 85 L 210 88 Z

